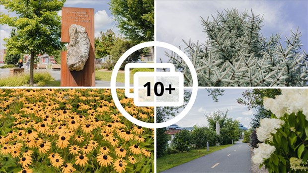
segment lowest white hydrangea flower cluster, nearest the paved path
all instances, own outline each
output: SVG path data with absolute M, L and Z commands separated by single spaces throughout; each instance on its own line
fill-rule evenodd
M 254 156 L 252 157 L 252 162 L 255 164 L 262 164 L 264 160 L 271 157 L 271 155 L 275 152 L 276 148 L 269 144 L 258 144 L 259 148 L 255 148 L 253 150 Z

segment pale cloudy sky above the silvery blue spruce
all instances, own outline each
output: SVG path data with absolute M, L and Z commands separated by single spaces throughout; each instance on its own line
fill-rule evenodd
M 185 48 L 185 41 L 204 43 L 207 40 L 201 25 L 202 16 L 207 19 L 217 10 L 237 8 L 239 12 L 252 8 L 254 14 L 263 15 L 264 22 L 261 33 L 265 37 L 282 33 L 290 37 L 290 30 L 300 27 L 302 32 L 302 49 L 308 52 L 308 1 L 307 0 L 158 0 L 156 2 L 157 41 L 170 43 Z M 250 11 L 249 11 L 250 12 Z M 165 57 L 163 51 L 157 52 L 158 57 Z

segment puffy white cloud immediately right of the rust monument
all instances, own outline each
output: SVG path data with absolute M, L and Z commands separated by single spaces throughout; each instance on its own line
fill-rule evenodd
M 99 36 L 99 31 L 104 31 L 103 28 L 111 26 L 113 22 L 112 17 L 108 16 L 106 10 L 97 11 L 94 15 L 95 37 Z

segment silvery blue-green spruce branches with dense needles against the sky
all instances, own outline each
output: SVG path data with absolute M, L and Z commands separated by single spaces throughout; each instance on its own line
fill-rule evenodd
M 283 47 L 280 34 L 266 39 L 260 33 L 263 18 L 252 10 L 218 12 L 211 21 L 202 18 L 208 40 L 205 44 L 185 42 L 199 86 L 307 86 L 308 54 L 301 50 L 297 29 Z M 167 54 L 192 86 L 188 66 L 175 53 Z

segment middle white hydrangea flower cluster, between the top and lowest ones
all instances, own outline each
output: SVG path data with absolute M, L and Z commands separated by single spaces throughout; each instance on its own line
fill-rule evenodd
M 265 141 L 266 139 L 272 140 L 272 134 L 277 132 L 281 125 L 285 122 L 280 119 L 264 118 L 260 119 L 260 127 L 256 128 L 259 141 Z

